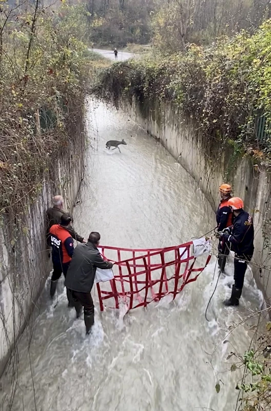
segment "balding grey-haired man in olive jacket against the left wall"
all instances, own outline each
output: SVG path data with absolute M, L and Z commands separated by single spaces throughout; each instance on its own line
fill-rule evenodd
M 66 213 L 63 210 L 63 204 L 64 204 L 64 200 L 62 196 L 55 196 L 54 197 L 54 206 L 50 207 L 47 212 L 46 212 L 46 232 L 47 232 L 47 244 L 49 247 L 51 247 L 51 238 L 50 238 L 50 228 L 54 225 L 54 224 L 59 224 L 60 220 L 61 220 L 61 216 L 63 214 L 68 214 L 68 216 L 71 218 L 72 221 L 72 216 L 69 213 Z M 81 235 L 79 235 L 78 233 L 76 233 L 74 231 L 74 229 L 71 227 L 71 225 L 69 225 L 68 228 L 72 238 L 74 238 L 75 240 L 79 241 L 79 242 L 86 242 L 84 240 L 83 237 L 81 237 Z

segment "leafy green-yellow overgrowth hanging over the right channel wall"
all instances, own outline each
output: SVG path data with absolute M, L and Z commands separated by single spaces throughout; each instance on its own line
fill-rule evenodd
M 197 122 L 201 134 L 221 148 L 246 148 L 250 154 L 270 158 L 271 22 L 253 35 L 246 32 L 223 38 L 209 48 L 191 44 L 188 51 L 160 59 L 148 55 L 113 65 L 101 73 L 95 90 L 114 103 L 135 98 L 151 106 L 153 100 L 171 102 Z M 143 113 L 144 114 L 144 113 Z M 258 135 L 264 116 L 265 134 Z

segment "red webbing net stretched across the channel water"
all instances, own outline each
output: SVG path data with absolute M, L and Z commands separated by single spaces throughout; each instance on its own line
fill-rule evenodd
M 120 308 L 121 304 L 127 309 L 146 307 L 168 294 L 174 300 L 186 284 L 196 281 L 210 260 L 210 255 L 193 255 L 192 241 L 163 249 L 99 249 L 105 258 L 116 261 L 114 278 L 97 284 L 101 311 L 104 306 Z

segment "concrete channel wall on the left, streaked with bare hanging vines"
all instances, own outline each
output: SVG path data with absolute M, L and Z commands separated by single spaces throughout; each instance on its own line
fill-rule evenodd
M 81 141 L 80 141 L 81 140 Z M 44 175 L 40 194 L 26 197 L 22 218 L 10 221 L 6 213 L 0 224 L 0 376 L 14 343 L 29 321 L 32 309 L 51 269 L 46 251 L 45 215 L 52 197 L 62 194 L 65 209 L 72 212 L 84 172 L 85 135 L 60 156 L 55 176 Z M 28 201 L 28 203 L 27 203 Z M 76 229 L 76 226 L 75 226 Z

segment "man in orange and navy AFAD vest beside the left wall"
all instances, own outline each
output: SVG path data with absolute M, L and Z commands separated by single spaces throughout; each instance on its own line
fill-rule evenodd
M 50 296 L 53 298 L 57 282 L 61 274 L 66 277 L 71 257 L 73 254 L 73 239 L 70 234 L 71 217 L 68 214 L 62 214 L 60 224 L 54 224 L 50 228 L 53 274 L 51 277 Z M 67 290 L 69 306 L 73 306 L 70 292 Z

